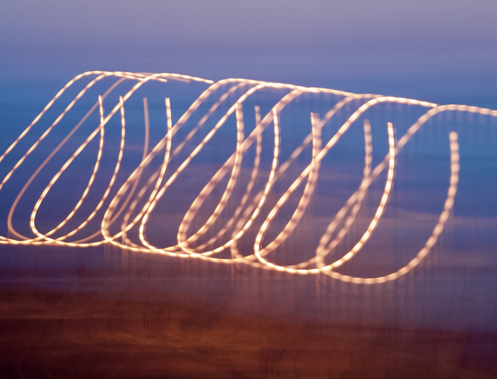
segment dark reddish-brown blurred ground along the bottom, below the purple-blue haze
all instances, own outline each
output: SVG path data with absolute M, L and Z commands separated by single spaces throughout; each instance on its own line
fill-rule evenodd
M 0 292 L 1 378 L 492 378 L 497 336 Z M 205 307 L 203 307 L 205 308 Z

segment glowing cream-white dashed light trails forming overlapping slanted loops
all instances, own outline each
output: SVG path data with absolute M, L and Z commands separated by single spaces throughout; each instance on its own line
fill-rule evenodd
M 89 247 L 97 246 L 102 244 L 112 244 L 122 249 L 127 249 L 135 252 L 144 253 L 157 253 L 165 254 L 173 257 L 180 258 L 199 258 L 219 263 L 235 263 L 242 262 L 252 266 L 276 270 L 280 272 L 286 272 L 289 274 L 296 275 L 309 275 L 309 274 L 320 274 L 324 273 L 331 276 L 337 280 L 358 283 L 358 284 L 374 284 L 374 283 L 384 283 L 388 281 L 395 280 L 408 272 L 410 272 L 414 267 L 416 267 L 424 257 L 430 252 L 431 248 L 435 245 L 443 231 L 445 224 L 449 218 L 449 215 L 453 209 L 455 196 L 457 193 L 457 184 L 459 180 L 459 145 L 457 133 L 451 132 L 449 134 L 449 149 L 450 149 L 450 177 L 449 177 L 449 187 L 447 190 L 447 197 L 444 202 L 443 210 L 438 218 L 438 222 L 433 228 L 430 237 L 426 240 L 424 246 L 419 250 L 415 257 L 408 262 L 404 267 L 400 268 L 396 272 L 391 274 L 376 277 L 376 278 L 358 278 L 351 277 L 347 275 L 340 274 L 335 271 L 335 269 L 341 266 L 346 261 L 354 257 L 366 244 L 368 239 L 374 233 L 376 227 L 381 221 L 384 215 L 385 208 L 388 205 L 391 192 L 394 186 L 395 171 L 396 171 L 396 161 L 397 155 L 402 150 L 402 148 L 408 143 L 408 141 L 414 136 L 414 134 L 430 120 L 436 114 L 446 111 L 462 111 L 470 113 L 478 113 L 481 115 L 489 115 L 492 117 L 497 117 L 497 111 L 485 108 L 471 107 L 466 105 L 437 105 L 433 103 L 428 103 L 419 100 L 406 99 L 400 97 L 391 96 L 380 96 L 372 94 L 354 94 L 344 91 L 336 91 L 326 88 L 313 88 L 313 87 L 302 87 L 290 84 L 282 83 L 272 83 L 263 82 L 256 80 L 247 79 L 224 79 L 218 82 L 213 82 L 212 80 L 206 80 L 193 76 L 184 76 L 178 74 L 147 74 L 147 73 L 124 73 L 124 72 L 101 72 L 93 71 L 76 76 L 74 79 L 69 81 L 58 93 L 57 95 L 46 105 L 42 112 L 33 120 L 33 122 L 19 135 L 19 137 L 6 149 L 6 151 L 0 156 L 0 163 L 5 159 L 7 155 L 17 146 L 17 144 L 28 134 L 28 132 L 35 127 L 38 121 L 43 117 L 43 115 L 51 108 L 54 102 L 62 96 L 62 94 L 76 81 L 80 80 L 85 76 L 97 75 L 96 78 L 92 79 L 86 86 L 81 90 L 76 97 L 69 103 L 69 105 L 64 109 L 64 111 L 56 118 L 56 120 L 47 128 L 47 130 L 35 141 L 32 146 L 25 152 L 25 154 L 18 159 L 13 167 L 8 170 L 5 177 L 0 182 L 0 191 L 4 185 L 9 181 L 13 173 L 19 169 L 26 158 L 39 146 L 39 144 L 47 138 L 51 131 L 60 123 L 60 121 L 66 116 L 66 114 L 74 107 L 78 100 L 98 81 L 106 77 L 117 77 L 118 80 L 111 85 L 101 96 L 98 96 L 98 101 L 90 108 L 90 110 L 83 116 L 82 120 L 73 128 L 73 130 L 63 139 L 63 141 L 51 152 L 48 157 L 41 162 L 40 166 L 35 170 L 33 175 L 27 180 L 19 194 L 13 201 L 10 211 L 7 216 L 7 227 L 8 231 L 12 236 L 16 238 L 11 238 L 7 236 L 0 235 L 0 244 L 32 244 L 32 245 L 61 245 L 61 246 L 72 246 L 72 247 Z M 116 104 L 112 110 L 105 116 L 104 114 L 104 99 L 109 95 L 109 93 L 124 80 L 135 80 L 136 84 L 124 95 L 119 97 L 119 103 Z M 141 157 L 141 163 L 132 172 L 128 179 L 122 184 L 122 186 L 117 190 L 116 195 L 110 200 L 109 206 L 105 209 L 104 215 L 101 221 L 101 228 L 99 231 L 92 233 L 90 236 L 84 237 L 79 240 L 69 241 L 68 239 L 75 234 L 81 232 L 92 219 L 95 218 L 97 213 L 102 210 L 104 203 L 108 199 L 112 188 L 114 188 L 116 183 L 116 177 L 121 167 L 121 162 L 123 158 L 123 152 L 125 148 L 126 139 L 126 118 L 125 118 L 125 103 L 133 95 L 133 93 L 140 88 L 147 81 L 158 81 L 166 82 L 167 80 L 179 80 L 179 81 L 198 81 L 209 84 L 210 86 L 190 105 L 188 110 L 179 118 L 179 120 L 173 125 L 172 124 L 172 110 L 169 98 L 165 99 L 166 105 L 166 136 L 149 152 L 149 115 L 148 115 L 148 102 L 144 99 L 144 110 L 145 110 L 145 143 Z M 209 99 L 209 97 L 217 90 L 227 86 L 226 90 L 219 99 L 211 105 L 209 110 L 201 117 L 197 125 L 186 135 L 183 141 L 180 141 L 176 148 L 172 149 L 172 137 L 177 133 L 177 131 L 189 120 L 189 118 L 198 111 L 200 106 Z M 255 128 L 252 132 L 246 136 L 245 132 L 245 122 L 244 122 L 244 102 L 254 93 L 262 89 L 284 89 L 289 91 L 284 95 L 276 105 L 268 112 L 264 117 L 260 115 L 260 108 L 255 107 Z M 198 133 L 206 121 L 213 115 L 217 110 L 221 109 L 221 106 L 229 98 L 229 96 L 235 94 L 237 91 L 245 91 L 242 96 L 228 109 L 228 111 L 219 119 L 216 125 L 210 130 L 203 140 L 195 147 L 195 149 L 184 159 L 184 161 L 179 165 L 179 167 L 172 172 L 167 179 L 166 170 L 168 167 L 168 162 L 179 152 L 182 151 L 186 143 L 193 139 L 193 137 Z M 281 124 L 279 120 L 279 114 L 281 111 L 287 107 L 291 102 L 305 93 L 324 93 L 333 94 L 343 97 L 342 100 L 338 101 L 330 111 L 328 111 L 323 118 L 320 118 L 317 114 L 311 114 L 311 134 L 309 134 L 302 142 L 301 146 L 298 147 L 285 162 L 280 162 L 280 144 L 281 144 Z M 338 128 L 337 132 L 331 137 L 331 139 L 323 145 L 323 140 L 321 137 L 322 129 L 324 126 L 330 122 L 335 114 L 340 110 L 344 109 L 345 106 L 351 104 L 353 100 L 361 100 L 363 103 L 348 117 L 348 119 Z M 333 220 L 329 224 L 325 231 L 325 234 L 321 237 L 319 241 L 319 246 L 316 249 L 316 254 L 313 258 L 301 262 L 293 266 L 280 266 L 270 261 L 269 255 L 274 251 L 282 242 L 284 242 L 293 232 L 295 227 L 299 224 L 304 215 L 313 192 L 317 185 L 317 180 L 320 172 L 321 161 L 331 151 L 333 146 L 340 140 L 340 138 L 347 132 L 350 126 L 357 121 L 362 114 L 364 114 L 368 109 L 374 107 L 380 103 L 397 103 L 406 105 L 417 105 L 421 107 L 428 108 L 419 119 L 408 129 L 406 134 L 397 140 L 395 135 L 395 129 L 392 123 L 387 124 L 387 134 L 388 134 L 388 145 L 389 151 L 385 156 L 383 161 L 380 162 L 376 167 L 372 168 L 372 144 L 371 144 L 371 125 L 368 121 L 364 121 L 364 169 L 363 178 L 358 189 L 349 197 L 345 202 L 343 207 L 336 213 Z M 33 182 L 35 177 L 39 172 L 47 165 L 50 159 L 63 147 L 63 145 L 68 141 L 68 139 L 73 136 L 78 128 L 83 124 L 83 122 L 89 117 L 89 115 L 98 108 L 100 121 L 97 128 L 86 138 L 86 140 L 81 144 L 72 156 L 60 167 L 55 176 L 50 180 L 47 187 L 42 191 L 41 196 L 36 201 L 35 206 L 31 212 L 29 225 L 31 231 L 34 233 L 35 237 L 30 238 L 22 235 L 13 227 L 12 219 L 16 207 L 19 204 L 21 197 L 25 194 L 29 185 Z M 94 183 L 95 176 L 100 168 L 101 157 L 103 152 L 103 145 L 105 140 L 105 126 L 108 121 L 112 118 L 114 114 L 119 112 L 121 118 L 121 138 L 119 145 L 119 152 L 117 156 L 117 161 L 115 167 L 112 171 L 112 175 L 108 181 L 107 188 L 102 195 L 102 198 L 98 201 L 98 204 L 91 211 L 89 216 L 83 220 L 83 222 L 75 227 L 73 230 L 67 232 L 63 236 L 57 238 L 52 237 L 57 231 L 64 227 L 77 213 L 77 211 L 82 207 L 91 186 Z M 177 179 L 181 172 L 188 166 L 191 160 L 203 149 L 203 147 L 212 139 L 215 133 L 226 123 L 231 115 L 235 115 L 236 126 L 237 126 L 237 142 L 236 151 L 233 155 L 225 162 L 225 164 L 213 175 L 211 180 L 204 186 L 197 198 L 194 200 L 188 211 L 183 217 L 183 220 L 178 228 L 177 232 L 177 244 L 167 247 L 154 246 L 147 239 L 147 223 L 150 220 L 151 214 L 154 212 L 159 200 L 163 198 L 166 194 L 167 189 L 171 184 Z M 250 194 L 253 192 L 254 183 L 256 177 L 259 173 L 260 159 L 261 159 L 261 141 L 262 132 L 266 130 L 270 125 L 273 126 L 274 135 L 274 149 L 273 157 L 271 162 L 271 168 L 267 181 L 261 191 L 254 194 L 252 201 L 250 201 Z M 73 210 L 65 217 L 65 219 L 60 222 L 57 226 L 53 227 L 48 232 L 42 233 L 38 230 L 36 226 L 36 215 L 43 203 L 45 197 L 50 192 L 51 188 L 64 173 L 65 170 L 72 164 L 75 158 L 85 149 L 85 147 L 98 136 L 99 147 L 96 156 L 96 161 L 93 166 L 91 176 L 88 180 L 86 187 L 83 190 L 81 198 L 78 200 L 77 204 L 74 206 Z M 230 198 L 234 193 L 235 186 L 237 184 L 242 161 L 244 158 L 244 153 L 255 144 L 255 157 L 253 161 L 253 167 L 250 171 L 250 177 L 248 185 L 246 186 L 245 193 L 242 199 L 233 212 L 232 217 L 226 221 L 225 226 L 218 230 L 214 235 L 210 235 L 209 232 L 215 222 L 219 219 L 221 213 L 226 208 Z M 239 239 L 246 234 L 247 230 L 253 225 L 254 221 L 261 215 L 261 209 L 266 203 L 267 197 L 272 190 L 274 182 L 281 177 L 281 175 L 288 169 L 290 164 L 300 155 L 300 153 L 307 147 L 312 146 L 312 157 L 311 162 L 308 166 L 302 170 L 300 175 L 290 187 L 280 196 L 274 207 L 271 209 L 269 214 L 264 220 L 262 220 L 261 227 L 257 231 L 255 241 L 253 244 L 253 252 L 250 255 L 243 255 L 238 249 Z M 165 148 L 166 152 L 164 158 L 162 159 L 162 164 L 156 170 L 156 172 L 151 175 L 146 184 L 142 188 L 138 188 L 140 179 L 142 178 L 142 173 L 144 169 L 150 164 L 150 162 Z M 344 238 L 347 232 L 352 227 L 354 221 L 356 220 L 358 211 L 361 204 L 365 198 L 367 189 L 372 184 L 372 182 L 387 168 L 387 180 L 385 182 L 385 187 L 383 194 L 381 196 L 380 203 L 376 209 L 373 219 L 371 220 L 369 226 L 363 235 L 359 238 L 356 244 L 341 258 L 338 258 L 332 263 L 326 264 L 325 258 L 334 252 L 340 241 Z M 196 214 L 198 213 L 202 204 L 208 199 L 208 196 L 212 193 L 214 188 L 220 183 L 220 181 L 229 174 L 228 183 L 221 196 L 221 200 L 215 207 L 211 216 L 207 219 L 205 224 L 198 228 L 193 234 L 188 236 L 188 231 L 191 228 L 192 221 L 194 220 Z M 264 235 L 271 225 L 272 220 L 278 214 L 281 207 L 288 201 L 290 196 L 299 188 L 299 186 L 305 181 L 305 187 L 303 194 L 299 200 L 298 206 L 293 212 L 290 220 L 283 227 L 283 230 L 270 242 L 263 245 Z M 148 190 L 150 194 L 145 196 Z M 140 201 L 145 201 L 144 206 L 137 208 Z M 135 212 L 137 211 L 137 212 Z M 135 216 L 133 214 L 136 213 Z M 118 218 L 123 215 L 121 226 L 117 233 L 111 234 L 110 227 L 115 224 Z M 338 229 L 338 227 L 341 228 Z M 128 236 L 129 231 L 138 226 L 139 240 L 140 243 L 133 242 Z M 226 239 L 225 235 L 228 231 L 234 227 L 234 231 L 231 232 L 228 241 L 221 242 Z M 335 235 L 331 239 L 332 235 Z M 195 246 L 195 242 L 201 240 L 202 237 L 208 236 L 207 241 L 202 242 Z M 98 238 L 97 241 L 94 239 Z M 209 248 L 209 246 L 217 245 L 214 248 Z M 219 258 L 216 254 L 229 250 L 231 251 L 231 258 Z M 314 266 L 314 267 L 313 267 Z

